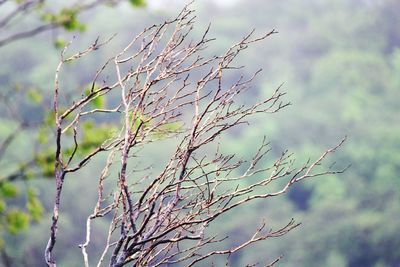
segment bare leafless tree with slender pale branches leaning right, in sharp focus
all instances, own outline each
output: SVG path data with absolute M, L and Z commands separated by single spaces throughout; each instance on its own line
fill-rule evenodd
M 229 257 L 253 243 L 282 236 L 299 224 L 291 220 L 279 229 L 267 229 L 262 223 L 247 241 L 218 250 L 213 245 L 224 238 L 207 232 L 217 218 L 257 199 L 284 194 L 306 178 L 343 171 L 318 168 L 344 140 L 298 168 L 287 151 L 266 167 L 269 145 L 265 138 L 248 161 L 220 151 L 219 143 L 223 142 L 225 132 L 246 125 L 256 114 L 275 113 L 288 105 L 282 100 L 281 87 L 267 99 L 248 105 L 239 103 L 238 97 L 260 71 L 252 77 L 238 76 L 232 84 L 224 79 L 227 72 L 239 68 L 234 65 L 239 53 L 276 31 L 259 37 L 252 31 L 224 54 L 204 58 L 201 52 L 213 39 L 208 37 L 208 27 L 199 40 L 191 40 L 193 12 L 186 6 L 175 19 L 139 33 L 99 68 L 90 90 L 68 108 L 60 108 L 62 66 L 92 53 L 110 39 L 96 40 L 87 50 L 71 56 L 67 56 L 67 48 L 63 50 L 55 75 L 53 100 L 56 196 L 45 250 L 48 266 L 56 266 L 53 249 L 64 180 L 73 178 L 74 173 L 102 152 L 108 156 L 98 179 L 98 200 L 87 218 L 86 238 L 80 245 L 85 266 L 89 266 L 91 225 L 99 217 L 110 218 L 110 225 L 97 266 L 105 262 L 112 267 L 194 266 L 215 256 Z M 113 107 L 98 109 L 90 105 L 104 97 L 115 100 L 116 96 L 119 101 Z M 81 124 L 95 114 L 119 116 L 121 124 L 100 145 L 82 155 L 79 153 L 83 149 Z M 67 135 L 68 132 L 72 134 Z M 150 169 L 143 175 L 141 170 L 133 168 L 140 150 L 162 139 L 177 142 L 162 170 L 153 173 Z M 107 179 L 116 181 L 116 188 L 106 191 Z M 286 181 L 284 186 L 270 191 L 269 185 L 278 180 Z

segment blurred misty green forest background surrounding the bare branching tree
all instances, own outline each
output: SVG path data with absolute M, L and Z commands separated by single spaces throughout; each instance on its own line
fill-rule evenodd
M 175 15 L 182 5 L 181 1 L 149 1 L 141 8 L 129 3 L 102 6 L 79 17 L 85 24 L 82 33 L 55 29 L 0 48 L 0 92 L 6 99 L 0 107 L 0 140 L 17 134 L 0 161 L 0 266 L 7 260 L 10 266 L 44 265 L 54 181 L 46 174 L 41 146 L 51 149 L 51 135 L 44 128 L 63 40 L 76 36 L 72 46 L 78 50 L 97 36 L 117 33 L 94 56 L 67 66 L 62 86 L 73 94 L 85 88 L 95 70 L 132 36 Z M 197 1 L 195 7 L 195 31 L 202 34 L 211 22 L 210 36 L 216 38 L 204 53 L 225 50 L 252 28 L 260 33 L 279 31 L 249 48 L 237 65 L 246 66 L 240 71 L 247 76 L 263 69 L 248 97 L 267 97 L 284 82 L 286 99 L 293 105 L 232 132 L 222 140 L 224 149 L 250 157 L 266 135 L 275 155 L 289 149 L 301 163 L 347 135 L 335 161 L 352 164 L 342 175 L 307 180 L 284 196 L 247 205 L 220 219 L 213 231 L 237 242 L 251 235 L 262 218 L 271 227 L 292 217 L 302 222 L 282 238 L 233 255 L 231 265 L 263 263 L 283 254 L 278 266 L 400 266 L 400 2 L 237 0 Z M 37 20 L 32 16 L 16 27 Z M 17 112 L 10 113 L 12 109 Z M 23 130 L 18 129 L 16 116 L 28 122 Z M 170 147 L 165 144 L 147 157 L 157 162 Z M 31 158 L 38 164 L 32 171 L 8 179 Z M 66 181 L 56 248 L 61 267 L 82 266 L 77 245 L 84 239 L 85 220 L 96 200 L 91 178 L 101 164 L 101 159 L 94 161 Z M 37 170 L 41 172 L 36 174 Z M 94 229 L 99 238 L 90 251 L 95 256 L 100 254 L 106 225 L 97 223 Z

